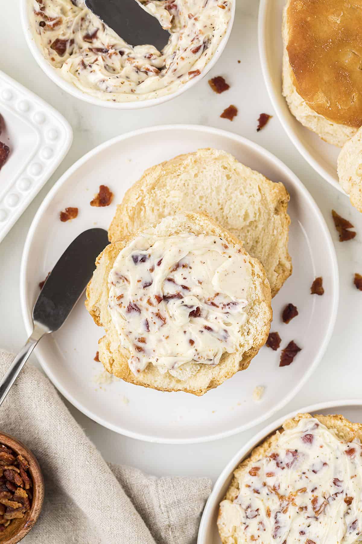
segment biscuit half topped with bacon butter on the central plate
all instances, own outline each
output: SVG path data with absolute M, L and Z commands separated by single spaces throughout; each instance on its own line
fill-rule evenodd
M 87 287 L 105 369 L 135 385 L 202 395 L 268 338 L 265 271 L 201 214 L 166 217 L 108 245 Z

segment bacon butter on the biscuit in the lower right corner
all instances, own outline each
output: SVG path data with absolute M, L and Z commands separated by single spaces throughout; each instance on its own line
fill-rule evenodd
M 243 527 L 238 542 L 362 542 L 361 455 L 358 440 L 344 442 L 317 419 L 301 419 L 243 475 L 239 496 L 225 505 L 227 526 Z

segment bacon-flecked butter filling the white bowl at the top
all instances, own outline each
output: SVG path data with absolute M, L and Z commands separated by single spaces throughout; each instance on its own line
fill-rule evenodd
M 233 0 L 140 0 L 170 33 L 162 51 L 128 45 L 84 0 L 28 2 L 37 45 L 60 75 L 100 100 L 125 102 L 170 94 L 199 75 L 225 36 Z

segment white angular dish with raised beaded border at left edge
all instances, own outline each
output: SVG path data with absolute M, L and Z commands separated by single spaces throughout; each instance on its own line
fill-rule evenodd
M 0 241 L 66 156 L 69 123 L 33 92 L 0 71 L 0 141 L 10 147 L 0 170 Z

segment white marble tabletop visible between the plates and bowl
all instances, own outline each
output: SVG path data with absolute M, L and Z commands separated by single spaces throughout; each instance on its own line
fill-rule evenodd
M 312 193 L 331 230 L 340 270 L 340 305 L 332 341 L 319 368 L 283 413 L 322 400 L 362 398 L 360 380 L 362 293 L 353 286 L 353 274 L 362 274 L 362 216 L 349 200 L 328 186 L 310 168 L 284 134 L 274 116 L 269 125 L 256 132 L 261 112 L 274 114 L 266 94 L 257 50 L 257 0 L 236 0 L 237 16 L 231 39 L 213 76 L 224 75 L 231 89 L 221 96 L 208 88 L 207 79 L 185 95 L 161 106 L 141 111 L 111 111 L 91 106 L 61 91 L 41 71 L 31 56 L 22 35 L 19 2 L 0 0 L 2 24 L 0 33 L 0 68 L 57 108 L 71 123 L 74 141 L 68 156 L 31 203 L 17 224 L 0 244 L 0 293 L 2 318 L 0 345 L 16 351 L 26 341 L 19 298 L 20 261 L 31 220 L 43 198 L 61 174 L 85 152 L 118 134 L 144 126 L 163 123 L 199 123 L 241 134 L 276 154 L 300 177 Z M 241 63 L 238 64 L 237 60 Z M 220 119 L 231 103 L 239 114 L 231 123 Z M 0 112 L 1 113 L 1 112 Z M 153 145 L 157 145 L 154 142 Z M 177 150 L 175 150 L 177 154 Z M 351 220 L 357 237 L 341 244 L 333 226 L 331 209 Z M 316 236 L 318 233 L 315 233 Z M 33 356 L 31 361 L 36 363 Z M 277 395 L 278 392 L 276 391 Z M 108 461 L 127 463 L 156 475 L 206 475 L 217 478 L 221 469 L 240 446 L 259 428 L 205 444 L 167 446 L 149 444 L 119 436 L 102 428 L 72 406 L 69 409 L 96 443 Z M 268 422 L 266 422 L 268 423 Z

